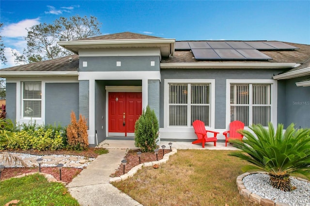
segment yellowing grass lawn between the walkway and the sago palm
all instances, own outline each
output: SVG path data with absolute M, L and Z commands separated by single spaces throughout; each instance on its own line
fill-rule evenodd
M 143 206 L 254 206 L 236 186 L 247 162 L 229 156 L 231 152 L 178 150 L 158 169 L 142 168 L 113 185 Z

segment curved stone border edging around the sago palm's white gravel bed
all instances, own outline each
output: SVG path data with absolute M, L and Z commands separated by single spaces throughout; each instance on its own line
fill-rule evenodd
M 259 196 L 258 194 L 252 193 L 251 191 L 249 191 L 243 184 L 243 178 L 251 175 L 251 174 L 256 174 L 256 173 L 261 173 L 261 174 L 268 174 L 267 172 L 247 172 L 244 173 L 242 175 L 239 175 L 236 179 L 236 183 L 237 183 L 237 188 L 239 193 L 244 196 L 245 198 L 248 198 L 249 201 L 260 204 L 262 206 L 289 206 L 286 203 L 280 203 L 280 202 L 274 202 L 273 200 L 269 200 L 266 198 L 263 198 L 261 196 Z M 301 181 L 306 181 L 306 182 L 310 182 L 307 179 L 303 179 L 300 177 L 294 177 L 297 178 Z

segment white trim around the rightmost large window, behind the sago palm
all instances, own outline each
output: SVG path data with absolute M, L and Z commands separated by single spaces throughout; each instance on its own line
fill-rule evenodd
M 230 110 L 230 95 L 231 84 L 270 84 L 271 88 L 271 117 L 270 121 L 273 125 L 277 125 L 277 110 L 278 110 L 278 82 L 271 79 L 226 79 L 226 130 L 229 130 L 231 122 Z M 246 127 L 248 128 L 248 127 Z

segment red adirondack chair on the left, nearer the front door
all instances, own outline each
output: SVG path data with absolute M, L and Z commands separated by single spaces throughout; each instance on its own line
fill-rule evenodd
M 204 148 L 204 143 L 214 142 L 214 146 L 217 146 L 217 134 L 219 132 L 205 130 L 204 122 L 201 120 L 195 120 L 193 122 L 193 127 L 194 127 L 198 140 L 195 140 L 194 142 L 192 142 L 192 144 L 202 143 L 202 147 Z M 208 137 L 207 132 L 212 132 L 213 137 Z

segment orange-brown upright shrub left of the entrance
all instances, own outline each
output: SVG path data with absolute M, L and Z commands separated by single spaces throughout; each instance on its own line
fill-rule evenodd
M 67 127 L 67 141 L 69 149 L 83 150 L 88 148 L 87 122 L 85 117 L 79 115 L 77 121 L 75 113 L 72 111 L 71 124 Z

